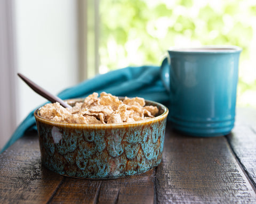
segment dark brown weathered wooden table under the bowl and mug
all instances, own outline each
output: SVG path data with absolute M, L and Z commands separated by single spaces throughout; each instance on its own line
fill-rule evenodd
M 0 155 L 0 203 L 256 203 L 256 110 L 238 109 L 223 137 L 187 137 L 169 125 L 162 163 L 115 180 L 47 170 L 30 132 Z

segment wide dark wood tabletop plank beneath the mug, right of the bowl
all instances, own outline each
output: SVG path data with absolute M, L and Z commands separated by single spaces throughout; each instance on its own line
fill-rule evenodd
M 167 128 L 156 183 L 158 203 L 256 203 L 225 137 L 186 137 Z

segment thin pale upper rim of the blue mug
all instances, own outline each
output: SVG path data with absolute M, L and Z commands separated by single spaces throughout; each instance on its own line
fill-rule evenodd
M 201 47 L 170 47 L 168 52 L 174 53 L 237 53 L 242 48 L 235 45 L 208 45 Z

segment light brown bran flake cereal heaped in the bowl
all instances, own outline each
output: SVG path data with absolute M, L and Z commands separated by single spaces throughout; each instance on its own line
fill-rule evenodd
M 40 110 L 46 119 L 79 124 L 126 123 L 147 120 L 158 114 L 156 106 L 145 106 L 140 97 L 119 100 L 106 92 L 93 93 L 72 108 L 64 108 L 58 102 L 46 104 Z

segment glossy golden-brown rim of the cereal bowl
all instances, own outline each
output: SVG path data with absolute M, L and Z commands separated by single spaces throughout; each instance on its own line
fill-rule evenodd
M 124 97 L 118 97 L 120 99 L 124 98 Z M 66 99 L 65 101 L 80 101 L 84 98 L 70 98 L 70 99 Z M 153 101 L 153 100 L 146 100 L 145 99 L 145 102 L 146 103 L 151 103 L 152 105 L 154 106 L 158 106 L 158 107 L 161 107 L 163 109 L 163 113 L 161 115 L 158 115 L 156 117 L 153 117 L 153 118 L 149 118 L 147 120 L 142 120 L 142 121 L 134 121 L 134 122 L 125 122 L 125 123 L 106 123 L 106 124 L 83 124 L 83 123 L 67 123 L 67 122 L 57 122 L 57 121 L 51 121 L 49 119 L 46 119 L 44 117 L 41 117 L 38 115 L 38 111 L 39 109 L 41 109 L 43 106 L 41 107 L 38 107 L 35 109 L 34 111 L 34 117 L 36 120 L 40 121 L 40 122 L 44 122 L 44 123 L 48 123 L 48 124 L 51 124 L 51 125 L 54 125 L 54 126 L 75 126 L 77 128 L 103 128 L 103 127 L 106 127 L 106 128 L 112 128 L 113 126 L 115 127 L 126 127 L 126 126 L 135 126 L 135 125 L 143 125 L 143 124 L 148 124 L 148 123 L 154 123 L 156 121 L 161 121 L 163 120 L 164 118 L 167 117 L 168 113 L 169 113 L 169 109 L 161 104 L 161 103 L 158 103 L 156 101 Z

